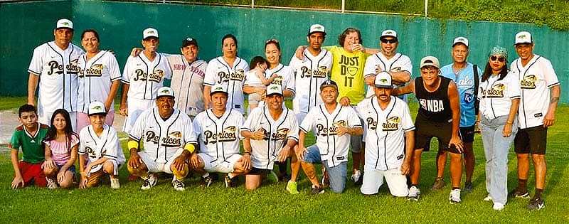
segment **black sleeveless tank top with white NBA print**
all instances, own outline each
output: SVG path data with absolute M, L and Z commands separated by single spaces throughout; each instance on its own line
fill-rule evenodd
M 425 90 L 422 78 L 415 78 L 415 97 L 419 101 L 418 116 L 434 122 L 448 122 L 452 119 L 448 89 L 450 79 L 439 76 L 440 85 L 435 92 Z

